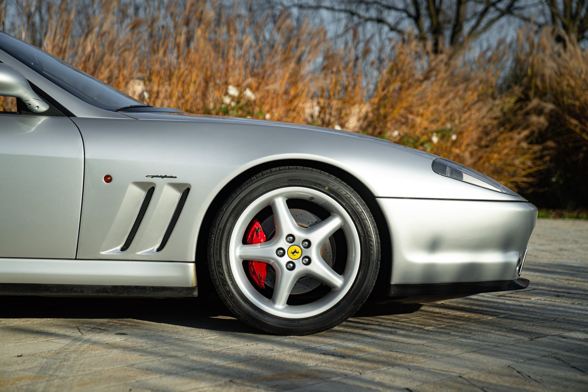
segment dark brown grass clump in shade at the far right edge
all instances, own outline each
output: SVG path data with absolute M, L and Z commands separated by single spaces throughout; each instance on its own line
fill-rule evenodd
M 553 39 L 558 34 L 563 42 Z M 540 205 L 588 206 L 588 52 L 562 32 L 520 31 L 510 85 L 519 105 L 543 126 L 530 139 L 542 145 L 550 165 L 534 183 Z M 513 87 L 514 89 L 514 87 Z

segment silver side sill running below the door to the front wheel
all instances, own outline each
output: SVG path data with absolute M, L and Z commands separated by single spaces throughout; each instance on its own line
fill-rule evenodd
M 1 283 L 196 286 L 194 263 L 0 258 Z

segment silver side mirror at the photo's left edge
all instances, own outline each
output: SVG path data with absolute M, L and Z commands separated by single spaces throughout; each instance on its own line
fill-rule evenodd
M 22 73 L 4 63 L 0 63 L 0 95 L 21 99 L 32 113 L 40 114 L 49 110 L 49 105 L 36 96 Z

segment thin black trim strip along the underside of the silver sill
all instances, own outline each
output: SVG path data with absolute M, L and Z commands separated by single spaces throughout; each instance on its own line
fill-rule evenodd
M 196 297 L 198 286 L 98 286 L 93 284 L 0 283 L 2 296 Z

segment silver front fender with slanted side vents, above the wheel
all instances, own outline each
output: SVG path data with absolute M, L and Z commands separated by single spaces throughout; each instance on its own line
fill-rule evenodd
M 307 159 L 340 167 L 379 197 L 524 200 L 439 176 L 431 169 L 435 156 L 355 133 L 258 120 L 165 113 L 132 115 L 162 120 L 73 119 L 81 130 L 86 152 L 78 258 L 115 258 L 103 253 L 115 246 L 105 247 L 105 241 L 117 226 L 117 215 L 129 185 L 149 180 L 155 184 L 155 193 L 145 219 L 160 213 L 155 202 L 161 198 L 166 184 L 183 183 L 192 189 L 162 252 L 147 252 L 155 249 L 159 236 L 165 232 L 162 222 L 154 222 L 152 227 L 157 235 L 142 225 L 135 239 L 142 246 L 127 250 L 123 257 L 192 261 L 199 225 L 220 190 L 251 167 L 283 159 Z M 313 143 L 301 146 L 300 140 Z M 102 180 L 106 173 L 113 176 L 110 184 Z M 145 178 L 157 173 L 178 178 Z M 135 201 L 134 210 L 138 208 L 139 202 Z M 127 229 L 129 220 L 127 217 Z

